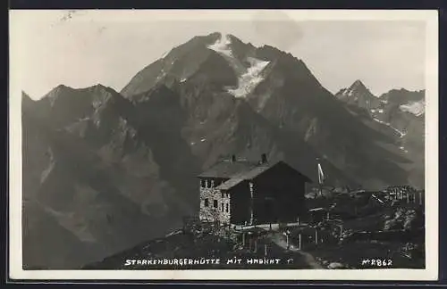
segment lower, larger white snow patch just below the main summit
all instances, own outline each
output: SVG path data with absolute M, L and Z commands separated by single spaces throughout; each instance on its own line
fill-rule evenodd
M 268 63 L 256 58 L 249 58 L 250 67 L 247 72 L 240 75 L 239 85 L 234 89 L 229 89 L 228 92 L 236 97 L 245 97 L 248 95 L 261 81 L 264 80 L 262 71 L 266 68 Z

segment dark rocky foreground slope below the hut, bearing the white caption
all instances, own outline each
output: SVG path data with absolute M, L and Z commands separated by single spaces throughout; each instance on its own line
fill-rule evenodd
M 420 208 L 399 203 L 336 225 L 328 219 L 279 231 L 196 224 L 84 269 L 425 268 L 423 226 Z

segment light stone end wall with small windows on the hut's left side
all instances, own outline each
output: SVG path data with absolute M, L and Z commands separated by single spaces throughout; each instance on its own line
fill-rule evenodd
M 223 193 L 215 187 L 200 186 L 200 219 L 218 220 L 221 224 L 229 224 L 231 217 L 230 194 Z M 208 200 L 208 206 L 205 200 Z M 215 208 L 215 201 L 217 208 Z M 222 207 L 223 206 L 223 207 Z M 227 210 L 228 207 L 228 210 Z

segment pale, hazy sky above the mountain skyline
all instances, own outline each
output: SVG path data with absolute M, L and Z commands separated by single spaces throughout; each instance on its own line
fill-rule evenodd
M 139 70 L 174 46 L 197 35 L 221 32 L 290 52 L 333 93 L 357 79 L 375 95 L 392 88 L 425 88 L 424 21 L 299 15 L 15 11 L 10 16 L 10 66 L 21 90 L 34 99 L 60 84 L 79 88 L 101 83 L 120 91 Z

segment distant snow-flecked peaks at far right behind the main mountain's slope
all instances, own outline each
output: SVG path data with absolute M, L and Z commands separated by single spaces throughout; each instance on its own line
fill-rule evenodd
M 403 167 L 408 171 L 409 184 L 424 187 L 425 178 L 425 90 L 392 89 L 383 95 L 373 95 L 356 80 L 335 96 L 346 103 L 350 111 L 363 115 L 363 120 L 392 129 L 399 136 L 399 148 L 411 160 Z M 356 112 L 354 112 L 356 113 Z

